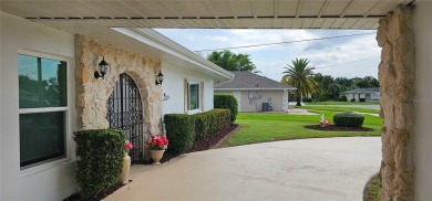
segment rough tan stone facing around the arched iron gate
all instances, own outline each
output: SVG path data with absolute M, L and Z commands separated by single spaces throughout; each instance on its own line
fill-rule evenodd
M 144 109 L 144 131 L 160 134 L 162 87 L 155 85 L 161 61 L 83 35 L 75 36 L 76 114 L 80 129 L 107 128 L 106 100 L 119 75 L 127 73 L 137 84 Z M 99 62 L 110 64 L 105 78 L 94 78 Z

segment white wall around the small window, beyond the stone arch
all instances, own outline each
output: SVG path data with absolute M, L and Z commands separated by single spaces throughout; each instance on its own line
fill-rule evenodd
M 174 66 L 162 61 L 162 73 L 164 74 L 164 82 L 162 84 L 163 93 L 169 96 L 168 100 L 162 103 L 162 115 L 176 113 L 184 114 L 184 81 L 204 82 L 204 110 L 213 109 L 213 82 L 214 78 L 183 68 L 182 66 Z

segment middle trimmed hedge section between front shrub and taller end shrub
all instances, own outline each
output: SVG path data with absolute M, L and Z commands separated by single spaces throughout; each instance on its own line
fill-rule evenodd
M 205 139 L 230 125 L 229 109 L 212 109 L 209 112 L 193 115 L 195 119 L 195 141 Z

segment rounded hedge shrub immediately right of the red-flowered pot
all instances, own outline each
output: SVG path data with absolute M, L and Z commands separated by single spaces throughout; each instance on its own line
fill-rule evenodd
M 195 140 L 193 116 L 184 114 L 166 114 L 164 116 L 166 137 L 169 139 L 167 151 L 174 156 L 183 155 Z

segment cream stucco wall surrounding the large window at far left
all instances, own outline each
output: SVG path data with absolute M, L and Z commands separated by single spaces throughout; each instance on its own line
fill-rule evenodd
M 62 200 L 76 190 L 73 178 L 74 39 L 72 34 L 1 12 L 0 200 Z M 52 55 L 68 61 L 69 159 L 20 170 L 18 53 Z

